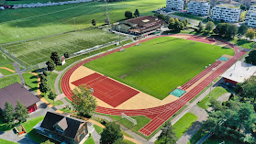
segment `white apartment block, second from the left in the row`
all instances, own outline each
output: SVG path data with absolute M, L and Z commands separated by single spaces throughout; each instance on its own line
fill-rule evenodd
M 210 13 L 210 4 L 204 2 L 189 2 L 187 5 L 187 13 L 197 16 L 206 16 Z

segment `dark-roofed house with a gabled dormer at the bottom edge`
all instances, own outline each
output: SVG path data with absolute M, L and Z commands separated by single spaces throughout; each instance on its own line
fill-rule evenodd
M 34 128 L 43 136 L 68 144 L 79 144 L 88 134 L 86 121 L 51 112 Z

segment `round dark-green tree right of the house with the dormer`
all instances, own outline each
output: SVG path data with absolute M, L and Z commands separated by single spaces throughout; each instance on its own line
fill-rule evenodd
M 120 126 L 115 122 L 109 122 L 106 124 L 106 128 L 104 128 L 103 132 L 101 133 L 100 143 L 112 144 L 119 138 L 123 139 Z

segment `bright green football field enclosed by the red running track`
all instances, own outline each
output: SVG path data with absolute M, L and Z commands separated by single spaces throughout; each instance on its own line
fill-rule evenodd
M 163 99 L 223 54 L 234 55 L 234 50 L 187 39 L 163 37 L 84 66 Z

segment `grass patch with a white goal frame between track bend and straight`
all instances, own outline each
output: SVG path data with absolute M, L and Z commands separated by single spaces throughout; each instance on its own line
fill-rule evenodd
M 133 130 L 133 131 L 139 131 L 140 128 L 144 127 L 145 125 L 147 125 L 150 122 L 150 118 L 146 117 L 146 116 L 130 116 L 133 119 L 137 120 L 137 125 L 133 126 L 133 124 L 128 121 L 125 118 L 122 118 L 122 116 L 111 116 L 113 119 L 115 119 L 117 122 L 123 124 L 125 127 L 128 127 L 129 129 Z

